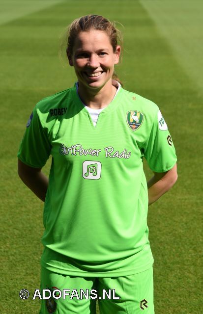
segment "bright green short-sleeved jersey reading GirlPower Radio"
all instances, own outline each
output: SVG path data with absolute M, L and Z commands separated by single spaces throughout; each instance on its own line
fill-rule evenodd
M 49 96 L 34 107 L 18 157 L 39 168 L 50 155 L 41 264 L 82 277 L 148 269 L 153 256 L 143 157 L 155 172 L 176 162 L 158 106 L 120 88 L 94 127 L 76 85 Z

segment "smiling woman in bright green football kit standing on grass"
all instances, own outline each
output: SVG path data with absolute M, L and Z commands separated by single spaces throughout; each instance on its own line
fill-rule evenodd
M 119 38 L 102 16 L 73 21 L 66 53 L 77 82 L 35 105 L 19 148 L 19 176 L 45 201 L 41 289 L 89 291 L 42 300 L 41 314 L 95 314 L 92 289 L 100 314 L 154 314 L 147 210 L 175 183 L 177 158 L 159 107 L 116 77 Z M 102 299 L 103 289 L 116 298 Z

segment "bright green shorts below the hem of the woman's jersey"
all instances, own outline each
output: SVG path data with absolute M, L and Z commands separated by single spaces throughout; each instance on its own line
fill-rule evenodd
M 96 314 L 96 300 L 100 314 L 154 314 L 153 266 L 134 275 L 102 278 L 41 267 L 41 296 L 40 314 Z

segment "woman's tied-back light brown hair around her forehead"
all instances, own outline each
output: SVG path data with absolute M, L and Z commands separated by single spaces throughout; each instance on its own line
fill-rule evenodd
M 66 32 L 66 53 L 71 56 L 73 53 L 74 41 L 79 32 L 88 31 L 90 29 L 98 29 L 103 30 L 107 33 L 110 38 L 111 45 L 113 47 L 113 51 L 116 52 L 116 46 L 121 46 L 121 59 L 122 59 L 122 47 L 123 47 L 123 39 L 121 32 L 116 28 L 116 24 L 114 22 L 110 22 L 108 19 L 104 18 L 101 15 L 85 15 L 76 20 L 74 20 L 67 28 Z M 114 71 L 113 79 L 116 79 L 121 86 L 123 86 L 120 79 L 117 77 L 116 72 Z

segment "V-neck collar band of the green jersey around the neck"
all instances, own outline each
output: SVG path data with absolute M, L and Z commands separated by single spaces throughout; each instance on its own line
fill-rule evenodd
M 77 93 L 77 87 L 76 84 L 74 84 L 74 86 L 72 87 L 72 95 L 73 95 L 73 99 L 74 99 L 74 104 L 77 105 L 83 112 L 89 114 L 88 110 L 86 109 L 86 106 L 84 106 L 83 102 L 80 99 L 80 96 Z M 111 103 L 109 105 L 107 105 L 100 113 L 108 113 L 111 112 L 113 110 L 116 109 L 117 105 L 119 105 L 119 101 L 121 99 L 123 93 L 123 88 L 122 86 L 120 86 L 119 91 L 117 92 L 116 96 L 114 97 L 114 99 L 111 101 Z

